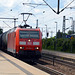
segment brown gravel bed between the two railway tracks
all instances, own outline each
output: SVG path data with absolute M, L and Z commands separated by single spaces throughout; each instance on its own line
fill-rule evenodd
M 44 66 L 47 66 L 49 68 L 52 68 L 54 70 L 57 70 L 59 72 L 64 73 L 65 75 L 75 75 L 75 68 L 71 68 L 62 64 L 54 63 L 54 66 L 52 65 L 53 62 L 51 61 L 46 61 L 43 59 L 40 59 L 41 61 L 47 62 L 49 64 L 44 64 Z

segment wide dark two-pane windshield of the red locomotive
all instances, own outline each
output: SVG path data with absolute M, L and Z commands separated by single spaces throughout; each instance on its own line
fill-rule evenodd
M 39 39 L 39 31 L 19 31 L 20 38 Z

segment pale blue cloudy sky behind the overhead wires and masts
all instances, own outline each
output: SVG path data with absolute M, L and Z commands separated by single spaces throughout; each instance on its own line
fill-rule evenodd
M 58 0 L 45 0 L 49 6 L 51 6 L 55 11 L 57 11 Z M 73 0 L 60 0 L 60 10 L 63 9 Z M 56 23 L 57 22 L 57 31 L 62 32 L 63 26 L 63 16 L 66 16 L 66 28 L 72 25 L 72 19 L 75 20 L 75 8 L 70 9 L 69 7 L 75 7 L 75 1 L 68 6 L 60 14 L 56 14 L 51 10 L 47 5 L 27 5 L 23 3 L 36 3 L 36 4 L 45 4 L 43 0 L 0 0 L 0 18 L 18 18 L 16 26 L 24 25 L 23 16 L 21 13 L 32 13 L 30 15 L 27 24 L 31 25 L 33 28 L 36 27 L 36 20 L 38 19 L 38 27 L 43 32 L 43 38 L 46 37 L 46 26 L 47 31 L 49 32 L 49 37 L 56 35 Z M 28 15 L 25 15 L 24 19 Z M 8 26 L 9 25 L 9 26 Z M 0 19 L 0 27 L 3 28 L 3 32 L 14 27 L 13 20 L 10 19 Z M 69 28 L 71 30 L 71 27 Z M 68 30 L 66 30 L 66 33 Z

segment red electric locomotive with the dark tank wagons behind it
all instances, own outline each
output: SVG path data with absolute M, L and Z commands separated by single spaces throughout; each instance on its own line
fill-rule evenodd
M 15 56 L 39 59 L 42 51 L 42 33 L 39 28 L 15 27 L 0 35 L 0 49 Z

